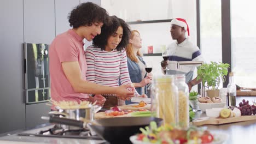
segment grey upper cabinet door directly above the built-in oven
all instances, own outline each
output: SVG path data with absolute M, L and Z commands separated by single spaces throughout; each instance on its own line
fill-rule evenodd
M 24 42 L 51 44 L 55 38 L 53 0 L 24 0 Z

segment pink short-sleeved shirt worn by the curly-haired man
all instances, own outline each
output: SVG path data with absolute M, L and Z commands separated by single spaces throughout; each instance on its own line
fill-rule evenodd
M 61 63 L 75 62 L 80 65 L 82 79 L 86 81 L 87 64 L 83 50 L 83 39 L 72 29 L 57 35 L 50 45 L 49 68 L 51 80 L 51 99 L 55 101 L 88 100 L 89 95 L 74 92 L 71 83 L 65 76 Z

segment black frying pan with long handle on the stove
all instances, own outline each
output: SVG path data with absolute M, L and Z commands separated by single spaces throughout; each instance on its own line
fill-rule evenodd
M 146 127 L 151 121 L 155 121 L 158 127 L 162 124 L 162 119 L 156 117 L 116 117 L 97 119 L 88 125 L 98 136 L 110 143 L 131 143 L 129 137 L 140 133 L 139 128 Z M 50 117 L 49 122 L 82 128 L 86 125 L 82 121 L 59 117 Z

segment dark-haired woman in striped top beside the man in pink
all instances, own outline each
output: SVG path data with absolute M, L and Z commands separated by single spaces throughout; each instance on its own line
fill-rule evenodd
M 85 51 L 88 65 L 86 79 L 100 85 L 118 87 L 132 83 L 124 50 L 129 43 L 131 31 L 127 23 L 116 16 L 111 16 L 110 21 L 111 24 L 102 27 L 101 34 L 93 39 L 92 46 Z M 139 95 L 137 91 L 135 91 L 135 95 L 136 97 L 147 97 L 145 94 Z M 112 96 L 106 97 L 105 108 L 117 104 L 125 105 L 124 100 Z

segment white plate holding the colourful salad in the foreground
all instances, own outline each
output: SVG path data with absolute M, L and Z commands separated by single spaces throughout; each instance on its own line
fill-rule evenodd
M 221 144 L 221 143 L 224 143 L 226 140 L 228 140 L 229 138 L 229 135 L 226 134 L 226 133 L 212 133 L 213 136 L 214 136 L 214 140 L 213 142 L 209 143 L 209 144 Z M 130 137 L 130 141 L 133 143 L 133 144 L 152 144 L 150 142 L 143 142 L 143 141 L 139 141 L 137 140 L 137 135 L 133 135 Z M 195 142 L 196 143 L 196 142 Z

